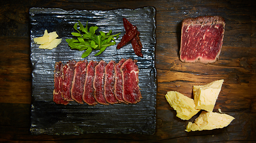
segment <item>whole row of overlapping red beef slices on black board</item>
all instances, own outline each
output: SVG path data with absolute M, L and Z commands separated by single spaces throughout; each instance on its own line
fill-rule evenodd
M 67 105 L 70 101 L 88 105 L 136 104 L 141 93 L 135 60 L 78 61 L 55 63 L 53 101 Z

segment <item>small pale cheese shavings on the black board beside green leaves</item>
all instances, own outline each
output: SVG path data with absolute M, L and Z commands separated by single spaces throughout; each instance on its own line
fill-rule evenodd
M 56 39 L 58 35 L 56 32 L 48 33 L 44 30 L 44 35 L 42 37 L 34 38 L 34 42 L 40 44 L 38 48 L 41 49 L 53 49 L 61 43 L 62 39 Z

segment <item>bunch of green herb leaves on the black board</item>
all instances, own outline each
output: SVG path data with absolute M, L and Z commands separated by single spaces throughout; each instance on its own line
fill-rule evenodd
M 83 27 L 83 24 L 80 23 L 80 21 L 74 24 L 73 27 L 77 32 L 72 32 L 71 35 L 76 36 L 77 39 L 66 39 L 66 41 L 71 49 L 79 49 L 79 51 L 86 50 L 83 52 L 81 56 L 82 58 L 91 54 L 92 49 L 100 50 L 95 54 L 95 56 L 100 55 L 108 46 L 115 45 L 116 41 L 114 38 L 116 37 L 116 39 L 118 39 L 118 35 L 121 34 L 118 33 L 116 35 L 112 35 L 112 30 L 110 30 L 108 33 L 100 31 L 100 35 L 96 35 L 95 31 L 98 27 L 91 26 L 88 31 L 88 21 L 86 22 L 86 27 Z

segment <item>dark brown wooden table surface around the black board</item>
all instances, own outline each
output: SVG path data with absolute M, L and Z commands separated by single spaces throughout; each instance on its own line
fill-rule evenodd
M 256 142 L 256 2 L 232 0 L 0 2 L 0 142 Z M 154 135 L 31 135 L 31 62 L 29 8 L 113 10 L 156 8 L 157 126 Z M 181 21 L 200 15 L 225 18 L 220 58 L 213 64 L 179 60 Z M 224 79 L 213 111 L 236 119 L 223 129 L 185 132 L 164 95 L 178 91 L 192 98 L 192 86 Z M 198 115 L 197 115 L 198 116 Z M 192 117 L 189 121 L 194 121 Z

